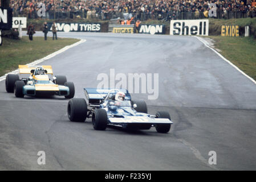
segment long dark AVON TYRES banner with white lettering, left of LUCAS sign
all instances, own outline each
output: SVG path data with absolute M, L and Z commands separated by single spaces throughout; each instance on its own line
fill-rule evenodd
M 51 28 L 52 23 L 48 23 Z M 100 32 L 101 23 L 56 23 L 58 31 L 64 32 Z

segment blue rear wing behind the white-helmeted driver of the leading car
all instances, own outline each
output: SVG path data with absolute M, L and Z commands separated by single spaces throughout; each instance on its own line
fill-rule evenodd
M 84 88 L 84 94 L 90 104 L 99 104 L 100 100 L 103 100 L 105 96 L 112 89 L 97 89 L 97 88 Z M 121 92 L 125 93 L 125 100 L 131 101 L 131 95 L 127 89 L 118 89 Z M 117 90 L 112 90 L 111 94 L 115 94 Z

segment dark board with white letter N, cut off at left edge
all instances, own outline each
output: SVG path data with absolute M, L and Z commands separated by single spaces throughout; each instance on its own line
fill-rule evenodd
M 3 9 L 0 7 L 0 30 L 10 30 L 13 24 L 13 10 L 10 8 Z

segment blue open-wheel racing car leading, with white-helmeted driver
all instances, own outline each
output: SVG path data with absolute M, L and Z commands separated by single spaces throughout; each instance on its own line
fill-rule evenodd
M 166 111 L 148 114 L 145 101 L 132 101 L 126 89 L 84 88 L 84 93 L 88 104 L 84 98 L 72 98 L 67 106 L 68 118 L 76 122 L 92 118 L 95 130 L 105 130 L 107 126 L 149 130 L 155 126 L 157 132 L 168 133 L 173 124 Z

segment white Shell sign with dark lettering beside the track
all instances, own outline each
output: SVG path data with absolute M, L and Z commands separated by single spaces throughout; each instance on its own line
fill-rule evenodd
M 170 35 L 205 35 L 209 34 L 209 20 L 170 20 Z

